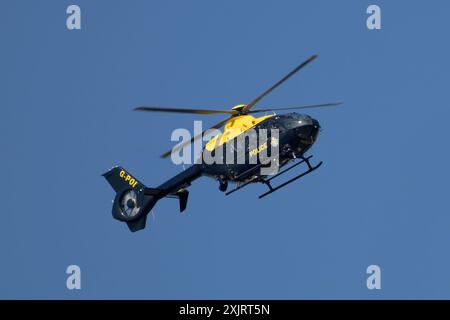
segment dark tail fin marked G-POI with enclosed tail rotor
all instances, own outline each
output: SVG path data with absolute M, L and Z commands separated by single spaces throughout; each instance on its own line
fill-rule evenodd
M 147 188 L 122 167 L 116 166 L 103 174 L 116 192 L 112 215 L 127 223 L 132 232 L 145 228 L 147 214 L 164 196 L 164 190 Z

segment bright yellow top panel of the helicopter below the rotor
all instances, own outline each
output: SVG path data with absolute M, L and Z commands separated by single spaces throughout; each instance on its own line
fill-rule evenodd
M 214 136 L 211 140 L 208 141 L 205 148 L 208 151 L 212 151 L 216 146 L 220 146 L 226 143 L 228 140 L 236 138 L 241 133 L 247 131 L 250 128 L 253 128 L 258 123 L 270 117 L 273 117 L 273 115 L 266 115 L 259 118 L 255 118 L 249 115 L 236 116 L 227 122 L 221 134 Z M 216 141 L 218 141 L 217 145 Z

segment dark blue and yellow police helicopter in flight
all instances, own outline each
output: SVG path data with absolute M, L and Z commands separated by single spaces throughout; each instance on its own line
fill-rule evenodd
M 263 198 L 319 168 L 322 165 L 322 161 L 313 165 L 310 161 L 312 155 L 305 156 L 305 153 L 317 140 L 321 130 L 319 121 L 306 114 L 295 112 L 276 114 L 275 112 L 280 110 L 333 107 L 340 105 L 340 102 L 288 108 L 252 109 L 269 93 L 316 58 L 317 55 L 310 56 L 250 103 L 239 104 L 228 110 L 155 106 L 140 106 L 135 108 L 135 111 L 140 112 L 169 112 L 196 115 L 225 114 L 228 117 L 208 129 L 217 130 L 218 133 L 206 143 L 199 158 L 200 161 L 197 160 L 186 170 L 156 188 L 147 187 L 135 178 L 134 175 L 120 166 L 115 166 L 105 172 L 103 174 L 104 178 L 116 192 L 112 207 L 113 217 L 119 221 L 126 222 L 130 231 L 136 232 L 145 228 L 148 213 L 163 198 L 178 199 L 180 212 L 183 212 L 187 207 L 189 196 L 187 188 L 194 180 L 201 176 L 207 176 L 217 180 L 219 182 L 219 190 L 225 192 L 226 195 L 241 190 L 252 183 L 263 183 L 268 187 L 268 190 L 259 196 L 259 198 Z M 252 114 L 263 112 L 273 113 L 261 117 L 252 116 Z M 223 131 L 219 131 L 220 128 L 223 128 Z M 190 140 L 177 144 L 170 151 L 162 154 L 161 157 L 167 158 L 179 152 L 195 141 L 198 141 L 198 139 L 203 138 L 208 130 L 202 131 Z M 268 131 L 271 134 L 267 134 Z M 257 141 L 256 146 L 250 143 L 249 139 L 242 139 L 243 136 L 252 136 L 248 134 L 249 132 L 255 138 L 253 140 Z M 265 134 L 263 135 L 261 132 L 265 132 Z M 240 144 L 241 147 L 238 148 L 240 153 L 235 152 L 231 158 L 232 160 L 236 160 L 236 157 L 239 157 L 239 154 L 241 154 L 247 161 L 215 161 L 212 163 L 201 161 L 206 155 L 216 156 L 216 159 L 217 155 L 219 155 L 219 160 L 224 160 L 225 157 L 228 157 L 229 153 L 225 152 L 224 154 L 219 151 L 227 147 L 230 147 L 229 149 L 231 150 L 236 150 L 232 146 L 236 146 L 238 140 L 244 141 Z M 263 151 L 267 151 L 266 157 L 258 157 Z M 249 159 L 253 159 L 254 161 L 248 161 Z M 264 172 L 263 169 L 272 166 L 273 162 L 276 162 L 276 170 L 269 174 Z M 282 167 L 289 163 L 293 164 L 280 171 Z M 272 185 L 274 179 L 301 164 L 306 164 L 305 171 L 277 186 Z M 235 187 L 227 192 L 229 182 L 234 183 Z

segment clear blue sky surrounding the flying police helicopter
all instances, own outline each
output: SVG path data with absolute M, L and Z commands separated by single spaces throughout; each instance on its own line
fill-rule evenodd
M 66 29 L 66 8 L 82 30 Z M 378 4 L 382 29 L 366 28 Z M 444 1 L 3 1 L 0 298 L 450 298 L 449 57 Z M 199 118 L 141 104 L 311 110 L 324 165 L 263 200 L 196 181 L 144 231 L 111 217 L 101 174 L 149 186 Z M 82 270 L 69 291 L 66 267 Z M 366 268 L 382 289 L 366 288 Z

